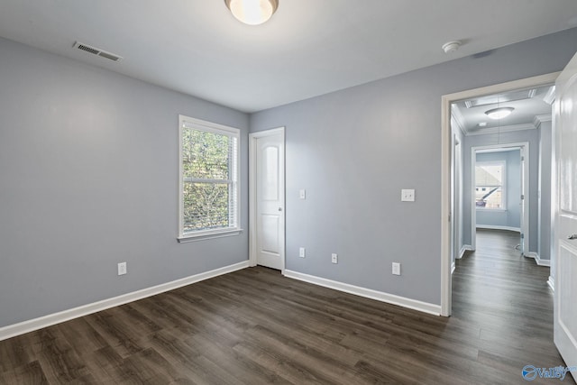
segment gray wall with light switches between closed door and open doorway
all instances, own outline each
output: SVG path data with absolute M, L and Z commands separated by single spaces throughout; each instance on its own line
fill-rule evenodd
M 561 70 L 576 50 L 572 29 L 251 115 L 252 131 L 287 129 L 287 268 L 440 304 L 441 96 Z

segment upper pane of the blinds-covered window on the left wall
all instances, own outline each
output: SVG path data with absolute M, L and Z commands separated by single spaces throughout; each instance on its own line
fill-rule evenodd
M 183 128 L 183 176 L 192 179 L 228 179 L 232 144 L 228 135 Z

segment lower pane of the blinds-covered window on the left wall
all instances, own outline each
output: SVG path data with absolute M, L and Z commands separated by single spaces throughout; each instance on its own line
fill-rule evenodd
M 227 183 L 184 183 L 184 233 L 234 226 Z

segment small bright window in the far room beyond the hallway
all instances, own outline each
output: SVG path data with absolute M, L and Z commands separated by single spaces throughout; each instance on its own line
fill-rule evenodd
M 475 166 L 475 206 L 505 209 L 505 162 L 477 162 Z

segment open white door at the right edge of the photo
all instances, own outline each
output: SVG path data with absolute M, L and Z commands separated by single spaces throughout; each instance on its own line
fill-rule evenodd
M 566 365 L 577 367 L 577 55 L 557 79 L 555 92 L 554 343 Z M 572 376 L 577 380 L 577 371 Z

